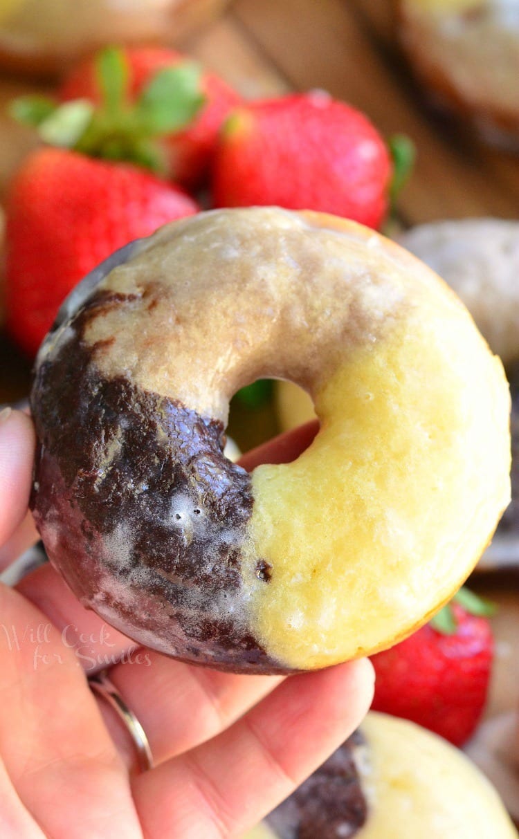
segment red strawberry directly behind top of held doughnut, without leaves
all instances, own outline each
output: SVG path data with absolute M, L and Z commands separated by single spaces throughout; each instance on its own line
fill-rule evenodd
M 364 114 L 323 91 L 239 107 L 213 169 L 217 206 L 319 210 L 380 227 L 393 167 Z

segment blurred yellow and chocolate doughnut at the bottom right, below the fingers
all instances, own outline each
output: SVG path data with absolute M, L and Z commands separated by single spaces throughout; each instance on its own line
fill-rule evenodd
M 490 782 L 441 737 L 370 711 L 243 839 L 517 839 Z

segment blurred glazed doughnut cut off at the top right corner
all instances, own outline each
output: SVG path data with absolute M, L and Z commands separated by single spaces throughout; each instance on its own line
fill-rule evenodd
M 517 149 L 519 10 L 503 0 L 396 0 L 396 30 L 437 102 Z

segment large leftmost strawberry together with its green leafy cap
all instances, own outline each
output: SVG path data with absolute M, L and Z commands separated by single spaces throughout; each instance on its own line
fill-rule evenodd
M 45 143 L 60 146 L 31 155 L 8 190 L 8 330 L 29 355 L 84 274 L 132 239 L 199 209 L 181 187 L 152 174 L 168 168 L 163 138 L 202 106 L 197 68 L 157 70 L 131 99 L 120 50 L 103 50 L 95 67 L 98 107 L 24 96 L 11 108 Z

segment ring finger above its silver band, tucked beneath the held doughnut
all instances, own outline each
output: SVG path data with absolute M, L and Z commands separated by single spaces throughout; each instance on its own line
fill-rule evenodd
M 216 736 L 281 681 L 193 667 L 144 649 L 109 677 L 144 727 L 155 765 Z M 116 715 L 109 725 L 119 745 L 128 740 Z

